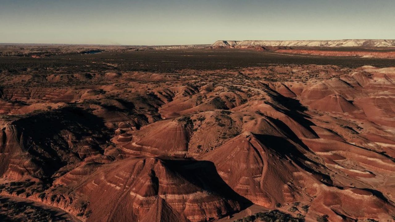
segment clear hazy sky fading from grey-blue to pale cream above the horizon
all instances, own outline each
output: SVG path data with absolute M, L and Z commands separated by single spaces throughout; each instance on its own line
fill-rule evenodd
M 395 39 L 395 0 L 0 0 L 0 43 Z

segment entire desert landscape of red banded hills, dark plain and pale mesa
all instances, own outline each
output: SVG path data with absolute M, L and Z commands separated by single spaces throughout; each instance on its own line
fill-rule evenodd
M 0 55 L 1 221 L 395 220 L 394 40 Z

